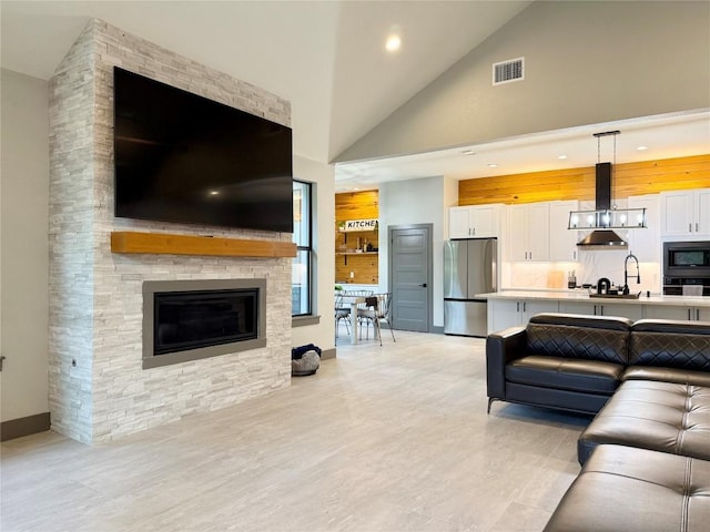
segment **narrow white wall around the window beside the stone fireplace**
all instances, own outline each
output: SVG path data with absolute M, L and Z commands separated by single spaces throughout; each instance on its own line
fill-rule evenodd
M 298 132 L 294 131 L 294 135 Z M 294 156 L 294 177 L 314 184 L 313 219 L 314 246 L 314 308 L 321 323 L 295 327 L 293 346 L 315 344 L 321 349 L 335 347 L 335 320 L 333 319 L 333 287 L 335 286 L 335 181 L 334 167 L 310 158 Z

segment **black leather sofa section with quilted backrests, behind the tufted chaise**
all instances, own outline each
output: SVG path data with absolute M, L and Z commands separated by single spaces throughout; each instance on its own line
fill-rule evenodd
M 486 339 L 488 411 L 508 401 L 596 415 L 626 380 L 710 387 L 710 324 L 538 314 Z

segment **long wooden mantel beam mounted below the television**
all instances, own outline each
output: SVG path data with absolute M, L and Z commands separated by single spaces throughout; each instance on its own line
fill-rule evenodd
M 114 231 L 111 233 L 111 252 L 274 258 L 295 257 L 296 245 L 293 242 Z

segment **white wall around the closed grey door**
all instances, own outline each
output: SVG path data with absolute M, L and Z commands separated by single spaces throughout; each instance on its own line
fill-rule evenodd
M 395 181 L 379 186 L 379 233 L 386 235 L 389 226 L 433 224 L 433 321 L 444 327 L 444 224 L 450 201 L 450 183 L 442 176 Z M 446 198 L 446 200 L 445 200 Z M 389 243 L 379 239 L 379 286 L 388 289 Z

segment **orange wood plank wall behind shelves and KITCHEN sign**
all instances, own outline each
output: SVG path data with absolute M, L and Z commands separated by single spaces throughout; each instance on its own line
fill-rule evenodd
M 357 237 L 361 243 L 367 238 L 374 247 L 379 247 L 378 232 L 338 231 L 338 224 L 346 219 L 372 219 L 379 217 L 379 192 L 347 192 L 335 195 L 335 280 L 357 284 L 379 283 L 379 257 L 377 255 L 342 255 L 355 249 Z M 351 272 L 355 277 L 351 278 Z

